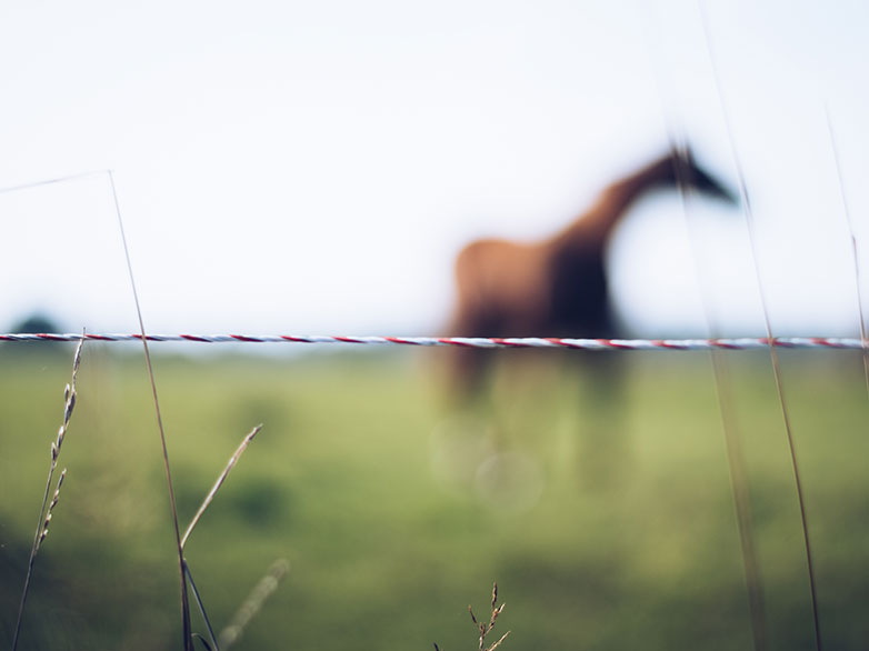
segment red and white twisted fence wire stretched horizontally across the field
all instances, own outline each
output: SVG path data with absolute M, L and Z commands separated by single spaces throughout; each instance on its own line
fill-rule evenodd
M 141 334 L 21 332 L 0 334 L 0 342 L 32 341 L 141 341 Z M 845 349 L 866 350 L 869 341 L 838 337 L 760 337 L 719 339 L 570 339 L 556 337 L 337 337 L 298 334 L 148 334 L 148 341 L 196 343 L 360 343 L 369 345 L 426 345 L 457 348 L 562 348 L 575 350 L 759 350 Z

